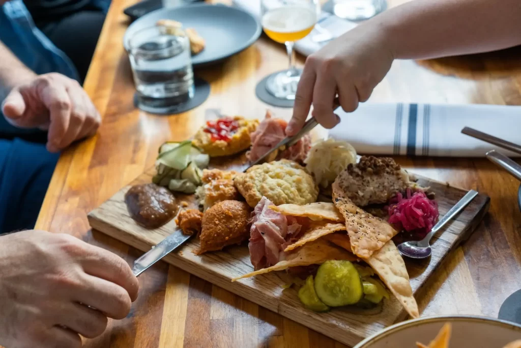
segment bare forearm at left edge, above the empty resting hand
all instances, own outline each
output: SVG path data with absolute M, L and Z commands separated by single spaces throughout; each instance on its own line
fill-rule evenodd
M 0 103 L 13 87 L 34 76 L 36 74 L 0 41 Z

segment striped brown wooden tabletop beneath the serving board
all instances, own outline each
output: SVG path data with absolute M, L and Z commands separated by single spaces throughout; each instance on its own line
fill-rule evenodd
M 61 155 L 36 225 L 105 247 L 129 263 L 141 251 L 90 231 L 86 213 L 152 166 L 160 143 L 193 135 L 203 124 L 206 109 L 262 118 L 267 106 L 255 98 L 255 85 L 287 65 L 285 50 L 261 38 L 224 64 L 197 71 L 212 84 L 212 94 L 202 106 L 171 117 L 148 115 L 132 105 L 134 86 L 122 46 L 128 25 L 122 10 L 134 2 L 113 0 L 85 81 L 103 125 L 95 138 Z M 371 101 L 518 105 L 520 52 L 398 61 Z M 303 62 L 302 57 L 299 60 Z M 275 112 L 289 118 L 291 111 Z M 414 173 L 491 197 L 490 213 L 473 237 L 448 258 L 418 298 L 423 315 L 497 317 L 504 299 L 521 288 L 519 183 L 485 159 L 400 158 L 399 162 Z M 131 314 L 110 321 L 105 334 L 86 340 L 85 347 L 343 346 L 163 262 L 141 275 L 140 285 Z

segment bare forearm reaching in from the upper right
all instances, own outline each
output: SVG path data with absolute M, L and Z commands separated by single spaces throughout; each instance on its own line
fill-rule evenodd
M 412 0 L 367 21 L 396 59 L 489 52 L 521 44 L 519 0 Z

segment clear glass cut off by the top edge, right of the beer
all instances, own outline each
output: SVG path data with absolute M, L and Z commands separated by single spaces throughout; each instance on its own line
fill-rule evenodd
M 378 15 L 386 5 L 386 0 L 333 0 L 333 12 L 340 18 L 364 20 Z

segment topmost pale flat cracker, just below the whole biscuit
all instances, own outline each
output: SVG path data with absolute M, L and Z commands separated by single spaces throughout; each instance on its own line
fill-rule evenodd
M 311 220 L 344 221 L 344 217 L 338 211 L 337 207 L 330 202 L 309 203 L 303 206 L 296 204 L 281 204 L 280 206 L 269 206 L 268 208 L 284 215 L 306 217 Z

